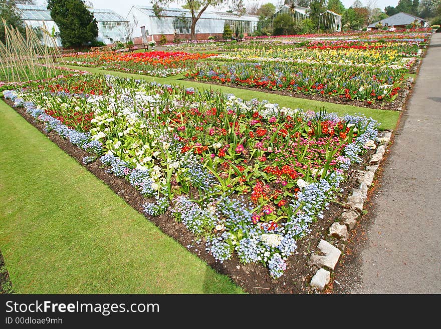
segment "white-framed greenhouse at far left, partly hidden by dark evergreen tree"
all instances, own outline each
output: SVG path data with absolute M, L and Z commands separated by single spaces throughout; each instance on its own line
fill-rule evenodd
M 44 6 L 16 5 L 22 20 L 30 27 L 46 27 L 49 33 L 58 33 L 57 24 L 51 18 L 51 12 Z M 105 44 L 115 41 L 125 42 L 128 37 L 128 22 L 114 11 L 108 9 L 89 9 L 98 23 L 98 37 L 96 40 Z M 60 37 L 56 37 L 57 46 L 61 46 Z

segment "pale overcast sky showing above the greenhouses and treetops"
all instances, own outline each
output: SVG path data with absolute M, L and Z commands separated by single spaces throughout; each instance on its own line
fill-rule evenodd
M 148 1 L 143 1 L 143 0 L 90 0 L 93 4 L 94 8 L 97 9 L 112 9 L 115 12 L 117 12 L 119 15 L 126 17 L 127 14 L 130 11 L 130 8 L 132 8 L 132 6 L 148 6 L 151 5 L 150 2 Z M 37 0 L 38 3 L 43 4 L 45 1 L 44 0 Z M 245 0 L 245 4 L 249 4 L 249 3 L 253 3 L 253 2 L 258 2 L 260 4 L 266 4 L 268 2 L 271 2 L 275 5 L 277 5 L 278 3 L 280 3 L 280 0 L 261 0 L 261 1 L 249 1 L 249 0 Z M 342 0 L 343 5 L 346 8 L 349 8 L 352 3 L 354 2 L 354 0 Z M 361 0 L 361 2 L 363 4 L 366 3 L 366 0 Z M 182 2 L 177 2 L 174 4 L 171 4 L 169 7 L 177 7 L 180 8 L 180 6 L 183 4 Z M 382 11 L 384 10 L 384 8 L 386 6 L 392 6 L 395 7 L 398 4 L 398 0 L 377 0 L 377 7 L 380 8 Z M 222 7 L 220 6 L 218 8 L 219 11 L 227 11 L 228 7 Z

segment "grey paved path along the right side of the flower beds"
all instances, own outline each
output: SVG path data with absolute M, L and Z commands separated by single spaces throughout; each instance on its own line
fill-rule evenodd
M 349 273 L 346 264 L 337 270 L 336 292 L 440 293 L 440 33 L 432 36 L 383 168 L 365 243 L 352 246 Z

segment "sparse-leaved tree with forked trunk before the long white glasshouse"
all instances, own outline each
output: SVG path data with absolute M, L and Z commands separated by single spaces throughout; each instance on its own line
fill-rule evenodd
M 153 12 L 155 13 L 156 17 L 160 18 L 162 17 L 162 12 L 170 3 L 174 3 L 173 0 L 154 0 L 153 1 Z M 190 11 L 191 14 L 191 33 L 190 33 L 190 39 L 196 40 L 196 23 L 202 16 L 203 12 L 208 8 L 208 6 L 217 7 L 219 5 L 232 5 L 232 8 L 234 9 L 240 9 L 243 11 L 245 8 L 244 6 L 244 0 L 180 0 L 179 2 L 183 2 L 186 9 Z M 182 6 L 182 7 L 184 7 Z M 241 14 L 241 13 L 238 13 Z

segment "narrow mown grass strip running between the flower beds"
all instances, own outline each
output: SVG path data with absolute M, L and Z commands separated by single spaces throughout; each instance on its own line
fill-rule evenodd
M 260 101 L 267 100 L 270 103 L 277 103 L 280 106 L 289 107 L 292 109 L 301 108 L 305 110 L 319 111 L 320 109 L 324 108 L 327 112 L 335 112 L 342 116 L 345 114 L 354 115 L 354 114 L 362 113 L 366 117 L 368 118 L 371 117 L 372 119 L 377 120 L 379 123 L 381 123 L 379 127 L 380 130 L 395 129 L 400 114 L 399 111 L 369 109 L 359 106 L 320 102 L 320 101 L 308 100 L 303 98 L 296 98 L 296 97 L 282 96 L 282 95 L 266 93 L 266 92 L 246 90 L 241 88 L 205 84 L 203 82 L 180 80 L 183 78 L 183 74 L 171 76 L 167 78 L 158 78 L 158 77 L 149 77 L 139 74 L 107 71 L 101 68 L 87 68 L 87 67 L 79 67 L 73 65 L 66 65 L 66 67 L 69 67 L 74 70 L 89 71 L 95 74 L 110 74 L 113 76 L 124 77 L 124 78 L 135 78 L 135 79 L 144 79 L 147 81 L 156 81 L 157 83 L 160 84 L 179 85 L 185 88 L 193 87 L 198 89 L 208 89 L 208 90 L 212 89 L 214 91 L 222 91 L 227 94 L 234 94 L 236 97 L 242 98 L 244 100 L 251 100 L 253 98 L 257 98 Z

